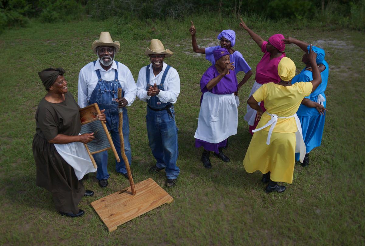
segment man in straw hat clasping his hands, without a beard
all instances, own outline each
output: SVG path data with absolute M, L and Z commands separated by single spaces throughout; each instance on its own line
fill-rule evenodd
M 149 169 L 166 171 L 166 186 L 176 185 L 180 169 L 176 166 L 178 156 L 177 128 L 174 103 L 180 94 L 180 78 L 173 67 L 164 62 L 172 56 L 169 49 L 158 39 L 152 39 L 145 55 L 151 64 L 139 70 L 137 97 L 147 102 L 147 134 L 156 164 Z

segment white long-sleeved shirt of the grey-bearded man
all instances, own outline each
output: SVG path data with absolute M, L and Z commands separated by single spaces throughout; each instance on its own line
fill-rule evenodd
M 77 103 L 81 108 L 88 105 L 88 101 L 91 98 L 91 94 L 95 89 L 99 79 L 97 78 L 96 70 L 100 69 L 101 79 L 105 81 L 111 81 L 115 79 L 115 70 L 118 71 L 118 81 L 120 87 L 124 91 L 124 98 L 126 98 L 128 105 L 131 106 L 135 100 L 137 93 L 137 86 L 131 71 L 128 67 L 120 62 L 118 62 L 118 69 L 116 63 L 113 60 L 113 64 L 108 71 L 105 71 L 101 67 L 99 60 L 90 62 L 85 65 L 78 75 L 78 85 L 77 85 Z

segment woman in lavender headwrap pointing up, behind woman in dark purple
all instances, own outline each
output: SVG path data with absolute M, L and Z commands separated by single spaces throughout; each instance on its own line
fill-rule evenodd
M 236 74 L 238 72 L 243 71 L 245 73 L 245 76 L 243 77 L 242 81 L 238 84 L 238 90 L 241 88 L 241 86 L 249 80 L 249 78 L 252 75 L 251 67 L 247 64 L 245 58 L 243 58 L 242 54 L 234 50 L 232 47 L 234 47 L 236 43 L 236 33 L 233 30 L 223 30 L 218 36 L 217 39 L 220 40 L 220 45 L 218 46 L 211 46 L 207 48 L 199 48 L 196 44 L 195 39 L 195 33 L 196 29 L 191 21 L 191 27 L 189 28 L 189 32 L 191 34 L 191 43 L 193 46 L 193 51 L 200 54 L 205 54 L 205 59 L 209 60 L 212 65 L 215 65 L 215 59 L 213 52 L 219 48 L 226 48 L 228 50 L 228 53 L 230 55 L 231 62 L 234 62 L 234 71 Z M 238 91 L 236 93 L 238 95 Z

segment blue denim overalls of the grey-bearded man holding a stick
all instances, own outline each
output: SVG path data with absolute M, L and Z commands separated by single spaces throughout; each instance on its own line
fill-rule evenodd
M 94 61 L 94 66 L 95 66 Z M 118 69 L 118 62 L 116 61 L 116 67 Z M 120 158 L 120 162 L 115 161 L 115 170 L 119 173 L 126 173 L 126 165 L 122 159 L 122 155 L 120 153 L 120 137 L 118 132 L 119 126 L 119 113 L 118 113 L 118 102 L 115 99 L 118 99 L 118 88 L 121 88 L 118 82 L 118 70 L 115 70 L 115 79 L 111 81 L 105 81 L 101 79 L 100 70 L 96 70 L 96 74 L 98 77 L 98 83 L 93 90 L 91 97 L 88 101 L 88 105 L 94 104 L 95 102 L 99 106 L 100 110 L 105 109 L 106 116 L 106 125 L 108 130 L 110 131 L 114 147 L 118 156 Z M 124 91 L 122 90 L 122 97 L 124 97 Z M 131 145 L 129 143 L 129 120 L 127 114 L 127 108 L 123 108 L 123 137 L 124 137 L 124 152 L 126 153 L 129 164 L 132 163 L 132 152 Z M 97 154 L 94 154 L 94 159 L 97 165 L 97 174 L 96 179 L 108 179 L 108 151 L 103 151 Z

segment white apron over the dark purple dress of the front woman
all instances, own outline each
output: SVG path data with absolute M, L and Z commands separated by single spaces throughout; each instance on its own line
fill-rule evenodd
M 237 134 L 238 110 L 234 93 L 204 93 L 194 138 L 218 144 Z

